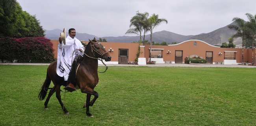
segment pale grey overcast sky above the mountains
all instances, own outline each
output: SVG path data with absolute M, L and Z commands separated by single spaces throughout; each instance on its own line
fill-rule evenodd
M 45 30 L 75 28 L 97 37 L 123 36 L 130 19 L 148 12 L 168 20 L 156 31 L 180 35 L 209 33 L 256 14 L 256 0 L 17 0 L 23 11 L 36 15 Z M 148 33 L 147 33 L 148 34 Z M 130 35 L 131 36 L 131 35 Z M 135 35 L 132 35 L 135 36 Z

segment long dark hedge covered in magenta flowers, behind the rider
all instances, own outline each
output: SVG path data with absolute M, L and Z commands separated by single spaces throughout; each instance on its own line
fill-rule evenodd
M 45 37 L 0 38 L 0 59 L 18 63 L 51 63 L 56 60 L 52 43 Z

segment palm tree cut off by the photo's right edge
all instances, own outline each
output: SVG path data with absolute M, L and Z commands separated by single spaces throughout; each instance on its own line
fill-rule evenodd
M 247 15 L 247 18 L 249 20 L 249 22 L 247 22 L 247 28 L 249 30 L 249 35 L 250 38 L 252 39 L 252 65 L 254 65 L 254 63 L 256 63 L 256 54 L 255 54 L 255 58 L 253 61 L 253 49 L 255 51 L 255 47 L 254 47 L 254 43 L 256 42 L 256 15 L 252 15 L 250 13 L 246 13 L 245 15 Z

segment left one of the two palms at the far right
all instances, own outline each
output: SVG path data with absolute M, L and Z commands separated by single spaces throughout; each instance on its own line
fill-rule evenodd
M 245 27 L 245 20 L 234 17 L 232 21 L 236 22 L 236 25 L 229 25 L 228 28 L 237 31 L 236 34 L 232 35 L 233 38 L 241 37 L 242 38 L 242 63 L 243 63 L 243 48 L 246 39 L 246 27 Z

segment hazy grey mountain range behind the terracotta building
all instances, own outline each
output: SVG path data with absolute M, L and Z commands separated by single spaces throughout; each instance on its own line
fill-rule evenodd
M 232 22 L 231 24 L 235 24 Z M 230 24 L 228 24 L 230 25 Z M 205 41 L 211 45 L 221 45 L 223 42 L 227 42 L 228 38 L 236 33 L 234 30 L 230 30 L 228 25 L 217 30 L 211 31 L 209 33 L 201 33 L 198 35 L 180 35 L 170 31 L 158 31 L 153 33 L 153 41 L 155 43 L 161 43 L 165 41 L 166 43 L 181 43 L 190 39 L 198 39 Z M 60 33 L 63 30 L 54 29 L 54 30 L 45 30 L 45 37 L 51 40 L 58 40 Z M 90 35 L 87 33 L 78 33 L 76 32 L 76 38 L 79 40 L 99 39 L 95 35 Z M 119 37 L 101 37 L 106 39 L 108 42 L 119 42 L 119 43 L 132 43 L 134 41 L 139 41 L 139 36 L 119 36 Z M 145 35 L 145 40 L 150 41 L 150 35 Z M 233 42 L 234 44 L 241 44 L 241 38 L 237 38 Z

